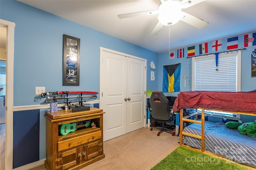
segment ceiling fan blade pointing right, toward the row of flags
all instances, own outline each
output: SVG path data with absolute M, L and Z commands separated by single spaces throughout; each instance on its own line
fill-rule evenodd
M 208 22 L 206 22 L 200 18 L 197 18 L 195 16 L 192 16 L 186 12 L 183 12 L 183 14 L 184 14 L 184 17 L 181 18 L 180 20 L 183 22 L 186 22 L 194 27 L 201 29 L 202 27 L 205 27 L 208 24 Z

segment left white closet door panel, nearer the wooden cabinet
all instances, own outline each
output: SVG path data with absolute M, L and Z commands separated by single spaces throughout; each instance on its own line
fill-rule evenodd
M 126 134 L 127 57 L 101 51 L 100 108 L 103 141 Z

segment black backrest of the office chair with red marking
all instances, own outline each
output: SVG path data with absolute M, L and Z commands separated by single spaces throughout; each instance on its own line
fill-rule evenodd
M 158 121 L 170 120 L 169 100 L 160 91 L 154 91 L 149 99 L 151 116 Z

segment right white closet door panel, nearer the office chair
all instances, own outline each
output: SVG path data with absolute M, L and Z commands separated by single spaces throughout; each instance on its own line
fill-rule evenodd
M 127 133 L 145 123 L 145 61 L 128 57 L 127 61 Z M 130 100 L 129 100 L 130 99 Z

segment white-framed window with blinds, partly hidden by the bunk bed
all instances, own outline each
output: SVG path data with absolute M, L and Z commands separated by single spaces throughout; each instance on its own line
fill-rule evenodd
M 241 51 L 220 53 L 218 67 L 216 67 L 216 55 L 214 54 L 192 58 L 192 90 L 238 92 L 241 90 L 240 75 Z M 233 113 L 217 113 L 210 110 L 207 114 L 240 117 Z

